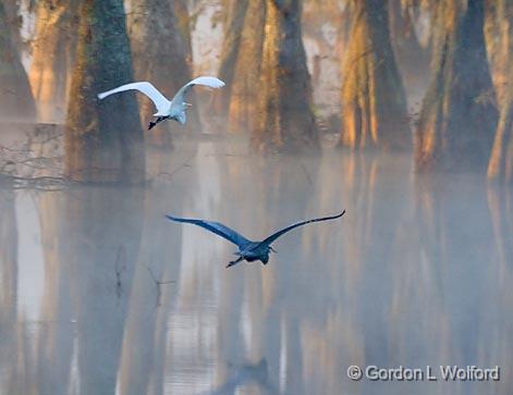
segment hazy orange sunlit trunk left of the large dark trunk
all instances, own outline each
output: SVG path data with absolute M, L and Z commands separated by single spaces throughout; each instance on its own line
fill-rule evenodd
M 36 37 L 29 73 L 41 122 L 65 119 L 71 71 L 75 59 L 78 0 L 37 3 Z

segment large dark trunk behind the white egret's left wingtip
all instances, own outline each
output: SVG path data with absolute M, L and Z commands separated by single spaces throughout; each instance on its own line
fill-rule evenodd
M 133 81 L 121 0 L 84 0 L 65 125 L 65 171 L 86 182 L 144 180 L 144 145 L 132 92 L 97 94 Z

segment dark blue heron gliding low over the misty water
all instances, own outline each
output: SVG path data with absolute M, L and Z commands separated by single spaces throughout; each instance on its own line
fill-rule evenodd
M 345 210 L 342 211 L 338 215 L 316 218 L 314 220 L 306 220 L 306 221 L 294 223 L 290 226 L 286 226 L 285 229 L 282 229 L 281 231 L 273 233 L 272 235 L 270 235 L 262 242 L 248 240 L 243 235 L 239 234 L 234 230 L 219 222 L 195 220 L 195 219 L 188 219 L 188 218 L 178 218 L 178 217 L 172 217 L 172 215 L 166 215 L 166 218 L 170 219 L 171 221 L 192 223 L 194 225 L 201 226 L 206 229 L 207 231 L 216 233 L 217 235 L 224 237 L 227 240 L 235 244 L 239 247 L 239 251 L 235 252 L 235 255 L 239 258 L 228 263 L 227 268 L 230 268 L 241 262 L 242 260 L 246 260 L 248 262 L 259 260 L 264 264 L 267 264 L 267 262 L 269 261 L 269 254 L 276 252 L 276 250 L 271 247 L 271 243 L 273 243 L 281 235 L 285 234 L 289 231 L 292 231 L 293 229 L 297 226 L 306 225 L 307 223 L 328 221 L 328 220 L 334 220 L 337 218 L 341 218 L 344 213 L 345 213 Z

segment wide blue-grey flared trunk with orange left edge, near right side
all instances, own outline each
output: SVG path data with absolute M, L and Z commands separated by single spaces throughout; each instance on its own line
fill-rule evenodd
M 439 50 L 415 141 L 417 171 L 486 171 L 497 110 L 483 34 L 484 0 L 440 2 Z

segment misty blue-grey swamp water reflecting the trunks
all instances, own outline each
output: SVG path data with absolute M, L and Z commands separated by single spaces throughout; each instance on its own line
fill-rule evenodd
M 148 187 L 1 189 L 0 394 L 513 393 L 511 189 L 419 178 L 408 156 L 175 144 Z M 163 218 L 258 239 L 342 209 L 231 269 L 234 246 Z M 352 365 L 501 375 L 352 382 Z

